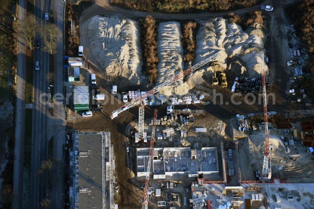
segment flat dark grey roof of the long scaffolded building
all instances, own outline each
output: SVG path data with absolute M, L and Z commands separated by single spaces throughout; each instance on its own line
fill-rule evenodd
M 79 208 L 102 208 L 101 134 L 80 135 L 78 151 Z

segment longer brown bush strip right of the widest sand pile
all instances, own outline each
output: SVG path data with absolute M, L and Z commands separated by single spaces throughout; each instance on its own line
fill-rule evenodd
M 141 42 L 143 51 L 143 73 L 149 77 L 150 83 L 157 82 L 157 32 L 158 25 L 155 19 L 148 15 L 140 21 Z

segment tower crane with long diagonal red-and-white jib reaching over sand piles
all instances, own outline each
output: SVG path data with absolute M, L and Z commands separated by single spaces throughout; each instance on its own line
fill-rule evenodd
M 188 74 L 191 74 L 194 70 L 198 69 L 199 67 L 202 67 L 203 65 L 207 64 L 208 62 L 214 61 L 219 56 L 219 54 L 220 54 L 220 52 L 215 53 L 214 55 L 212 55 L 212 56 L 208 57 L 207 59 L 197 63 L 196 65 L 190 67 L 189 69 L 187 69 L 187 70 L 185 70 L 185 71 L 183 71 L 183 72 L 181 72 L 179 74 L 176 74 L 174 77 L 172 77 L 171 79 L 167 80 L 165 83 L 162 83 L 159 86 L 156 86 L 155 88 L 153 88 L 150 91 L 146 92 L 145 94 L 141 95 L 137 99 L 131 100 L 130 102 L 126 103 L 121 108 L 119 108 L 118 110 L 115 110 L 115 111 L 111 112 L 110 113 L 111 119 L 113 119 L 116 116 L 118 116 L 118 114 L 120 114 L 124 110 L 128 110 L 129 108 L 132 108 L 134 106 L 139 105 L 140 106 L 140 110 L 139 110 L 140 111 L 139 112 L 139 117 L 140 118 L 139 118 L 139 121 L 144 121 L 143 120 L 143 118 L 144 118 L 144 111 L 143 111 L 143 109 L 141 109 L 141 105 L 142 105 L 142 107 L 143 107 L 143 105 L 145 105 L 146 98 L 148 98 L 149 96 L 159 92 L 164 87 L 170 86 L 171 84 L 173 84 L 175 81 L 179 80 L 180 78 L 183 78 L 184 76 L 186 76 Z M 141 127 L 143 127 L 143 126 L 141 126 Z M 139 128 L 142 129 L 141 127 L 139 127 Z

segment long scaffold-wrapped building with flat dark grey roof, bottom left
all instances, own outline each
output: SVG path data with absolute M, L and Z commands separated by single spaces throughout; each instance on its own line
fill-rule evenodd
M 70 208 L 117 208 L 115 159 L 110 131 L 72 132 Z

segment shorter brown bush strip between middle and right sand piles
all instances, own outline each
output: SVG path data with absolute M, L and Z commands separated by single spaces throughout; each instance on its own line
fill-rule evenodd
M 182 46 L 185 51 L 184 61 L 194 60 L 194 52 L 196 48 L 195 41 L 195 31 L 196 31 L 196 22 L 188 22 L 183 25 L 182 29 Z

